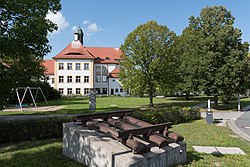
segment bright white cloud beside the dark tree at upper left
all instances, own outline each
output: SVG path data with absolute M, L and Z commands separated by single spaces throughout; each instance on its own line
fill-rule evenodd
M 61 12 L 57 12 L 56 14 L 51 11 L 46 15 L 46 19 L 49 19 L 53 23 L 55 23 L 58 27 L 57 31 L 53 31 L 51 34 L 57 34 L 69 26 L 69 23 L 66 21 L 66 18 L 62 15 Z

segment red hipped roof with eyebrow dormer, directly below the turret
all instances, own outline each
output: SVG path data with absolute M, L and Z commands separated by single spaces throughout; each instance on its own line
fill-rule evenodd
M 58 55 L 54 56 L 53 59 L 94 59 L 94 57 L 89 54 L 79 40 L 73 40 Z

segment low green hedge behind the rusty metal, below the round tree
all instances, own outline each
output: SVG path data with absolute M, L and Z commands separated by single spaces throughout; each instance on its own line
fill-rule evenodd
M 164 122 L 178 124 L 201 118 L 198 109 L 191 107 L 169 107 L 150 111 L 137 111 L 132 116 L 152 124 Z

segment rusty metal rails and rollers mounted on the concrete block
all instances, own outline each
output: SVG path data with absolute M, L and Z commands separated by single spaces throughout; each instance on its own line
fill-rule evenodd
M 184 137 L 169 131 L 171 122 L 152 125 L 129 116 L 133 110 L 78 115 L 74 122 L 108 133 L 131 148 L 135 154 L 150 151 L 151 147 L 162 148 L 169 143 L 183 141 Z

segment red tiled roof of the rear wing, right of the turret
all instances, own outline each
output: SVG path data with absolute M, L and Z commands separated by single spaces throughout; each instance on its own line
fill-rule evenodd
M 88 52 L 95 58 L 96 63 L 101 64 L 119 64 L 116 60 L 121 59 L 122 51 L 119 48 L 108 48 L 108 47 L 86 47 Z

